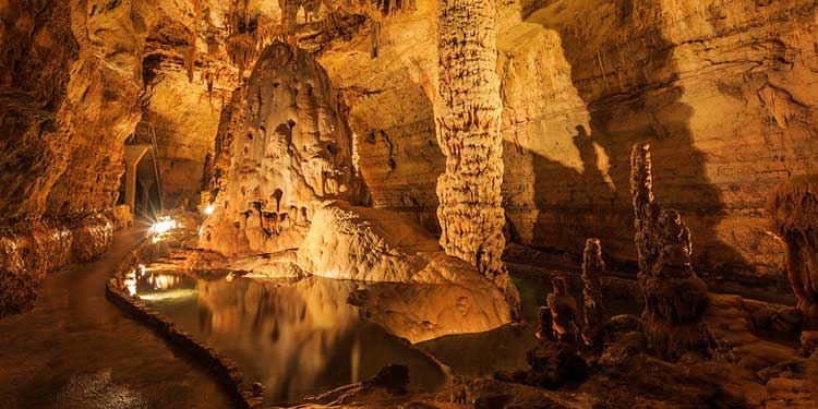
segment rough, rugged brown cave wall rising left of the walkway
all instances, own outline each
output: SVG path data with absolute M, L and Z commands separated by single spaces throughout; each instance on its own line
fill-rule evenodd
M 141 31 L 127 0 L 0 3 L 0 316 L 111 242 Z

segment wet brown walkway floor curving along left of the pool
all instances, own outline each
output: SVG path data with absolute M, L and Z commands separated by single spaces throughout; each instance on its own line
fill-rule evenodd
M 0 321 L 0 408 L 227 408 L 203 366 L 105 299 L 142 230 L 47 277 L 33 311 Z

